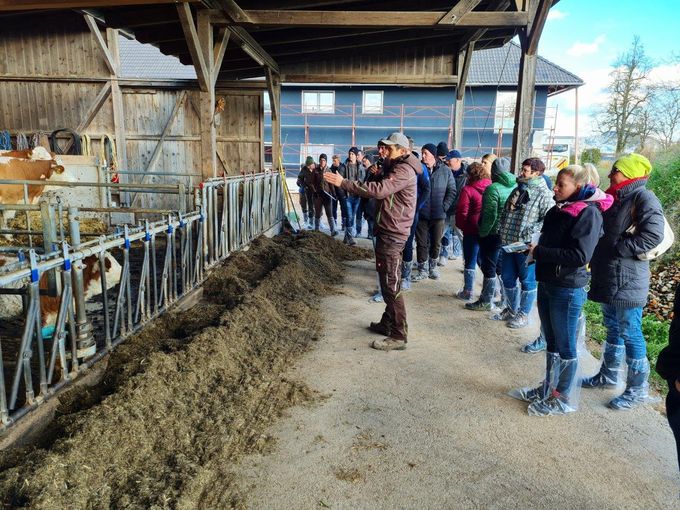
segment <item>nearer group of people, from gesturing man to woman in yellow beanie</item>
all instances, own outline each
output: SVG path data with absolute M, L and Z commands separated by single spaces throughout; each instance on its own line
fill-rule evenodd
M 515 175 L 507 158 L 491 154 L 470 165 L 460 152 L 434 144 L 418 154 L 403 133 L 392 133 L 378 147 L 384 159 L 367 168 L 370 178 L 358 180 L 347 171 L 323 174 L 347 196 L 375 200 L 376 268 L 385 313 L 369 329 L 385 338 L 374 341 L 374 348 L 406 348 L 403 291 L 412 282 L 437 279 L 438 265 L 455 257 L 442 251 L 450 230 L 449 246 L 462 238 L 463 288 L 456 295 L 465 308 L 523 328 L 537 303 L 541 335 L 524 351 L 546 351 L 545 377 L 512 393 L 529 404 L 530 415 L 572 412 L 581 387 L 611 388 L 624 380 L 625 390 L 610 401 L 611 408 L 648 401 L 650 366 L 641 320 L 650 271 L 643 255 L 663 240 L 664 216 L 646 188 L 652 166 L 644 156 L 619 158 L 603 191 L 598 173 L 587 165 L 562 169 L 553 185 L 537 158 L 523 161 Z M 474 299 L 478 267 L 484 279 Z M 602 306 L 607 341 L 599 371 L 582 379 L 577 337 L 586 298 Z

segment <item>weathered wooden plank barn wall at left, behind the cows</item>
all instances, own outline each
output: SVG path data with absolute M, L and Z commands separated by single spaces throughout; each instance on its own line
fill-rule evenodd
M 85 118 L 110 72 L 95 37 L 79 15 L 37 18 L 36 29 L 3 27 L 0 35 L 0 130 L 12 135 L 75 129 Z M 20 24 L 18 24 L 20 25 Z M 153 172 L 201 173 L 198 91 L 130 88 L 121 82 L 127 161 L 121 170 L 143 172 L 122 176 L 123 181 L 196 185 L 200 176 L 160 176 Z M 184 97 L 170 121 L 178 99 Z M 216 113 L 218 174 L 261 171 L 264 168 L 264 104 L 260 90 L 217 90 L 224 98 Z M 170 121 L 170 122 L 169 122 Z M 167 131 L 163 136 L 167 125 Z M 93 153 L 99 139 L 115 132 L 111 96 L 81 134 L 92 137 Z M 162 150 L 149 166 L 156 145 Z M 140 195 L 135 205 L 176 207 L 176 197 Z

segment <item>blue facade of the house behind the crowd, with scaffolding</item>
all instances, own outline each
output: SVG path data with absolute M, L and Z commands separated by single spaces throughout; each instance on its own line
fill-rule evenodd
M 334 91 L 333 113 L 303 113 L 302 92 Z M 383 91 L 382 114 L 364 114 L 363 91 Z M 500 89 L 512 92 L 514 89 Z M 466 157 L 479 158 L 487 152 L 509 155 L 512 122 L 499 133 L 496 121 L 495 87 L 468 88 L 465 93 L 463 144 Z M 544 129 L 548 90 L 536 89 L 534 129 Z M 344 155 L 354 144 L 375 147 L 392 131 L 404 131 L 416 146 L 445 141 L 450 143 L 455 88 L 402 88 L 354 86 L 284 86 L 281 91 L 281 142 L 286 168 L 299 168 L 306 154 L 305 144 Z M 271 119 L 265 116 L 265 140 L 271 142 Z M 313 152 L 313 150 L 311 151 Z M 329 154 L 330 156 L 330 154 Z

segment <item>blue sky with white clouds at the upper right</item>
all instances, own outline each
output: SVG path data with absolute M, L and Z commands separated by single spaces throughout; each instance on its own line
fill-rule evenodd
M 603 89 L 618 55 L 640 37 L 645 52 L 658 63 L 654 78 L 680 80 L 680 0 L 561 0 L 550 12 L 541 37 L 539 55 L 581 77 L 579 135 L 593 130 L 590 113 L 604 101 Z M 549 101 L 557 107 L 556 134 L 574 133 L 574 92 Z

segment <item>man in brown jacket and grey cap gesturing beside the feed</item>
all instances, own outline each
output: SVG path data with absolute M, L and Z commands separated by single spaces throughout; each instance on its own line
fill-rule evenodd
M 406 349 L 406 305 L 401 289 L 401 255 L 411 232 L 416 207 L 416 174 L 420 161 L 411 154 L 403 133 L 392 133 L 380 140 L 388 150 L 382 169 L 373 182 L 344 179 L 340 174 L 325 173 L 324 179 L 345 191 L 364 198 L 375 198 L 375 265 L 380 276 L 380 290 L 385 312 L 380 322 L 372 322 L 371 331 L 387 338 L 371 346 L 383 351 Z

